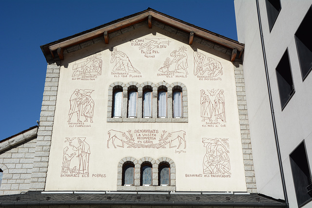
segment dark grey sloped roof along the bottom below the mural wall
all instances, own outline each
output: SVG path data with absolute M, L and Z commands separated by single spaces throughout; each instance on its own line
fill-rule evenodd
M 6 206 L 230 206 L 286 207 L 283 200 L 262 194 L 183 193 L 183 192 L 41 192 L 0 196 L 0 207 Z

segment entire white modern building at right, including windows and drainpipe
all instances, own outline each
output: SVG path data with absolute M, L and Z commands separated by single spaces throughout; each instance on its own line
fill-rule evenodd
M 312 1 L 234 4 L 257 191 L 310 208 Z

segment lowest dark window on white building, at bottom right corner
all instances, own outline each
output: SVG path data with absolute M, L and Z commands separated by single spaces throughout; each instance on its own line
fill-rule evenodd
M 290 160 L 297 203 L 301 207 L 312 199 L 311 171 L 304 142 L 292 151 Z

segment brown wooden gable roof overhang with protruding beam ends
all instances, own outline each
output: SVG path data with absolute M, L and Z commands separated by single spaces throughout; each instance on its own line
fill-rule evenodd
M 100 25 L 98 27 L 78 33 L 76 35 L 73 35 L 67 38 L 62 38 L 57 41 L 42 45 L 40 46 L 40 48 L 47 62 L 50 62 L 50 61 L 54 62 L 57 59 L 63 60 L 64 59 L 63 50 L 68 47 L 71 47 L 73 45 L 88 41 L 93 38 L 98 38 L 101 36 L 104 37 L 105 43 L 108 44 L 109 43 L 108 34 L 115 32 L 117 30 L 120 30 L 122 28 L 128 27 L 130 25 L 139 23 L 141 21 L 148 21 L 149 28 L 152 28 L 152 19 L 155 19 L 164 24 L 170 25 L 179 30 L 189 33 L 190 34 L 189 44 L 192 44 L 194 36 L 197 36 L 197 37 L 206 39 L 208 41 L 214 42 L 215 44 L 224 46 L 228 49 L 231 49 L 232 50 L 231 61 L 234 61 L 237 54 L 239 54 L 239 58 L 240 58 L 244 50 L 244 44 L 239 43 L 236 40 L 233 40 L 231 38 L 226 38 L 224 36 L 221 36 L 219 34 L 213 33 L 206 29 L 197 27 L 193 24 L 187 23 L 180 19 L 170 17 L 166 14 L 157 12 L 156 10 L 151 9 L 151 8 L 148 8 L 147 10 L 144 10 L 142 12 Z

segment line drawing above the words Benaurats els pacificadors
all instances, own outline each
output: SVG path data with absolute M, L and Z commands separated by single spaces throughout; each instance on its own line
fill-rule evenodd
M 203 159 L 204 174 L 231 174 L 229 151 L 229 139 L 207 139 L 202 138 L 206 148 Z

